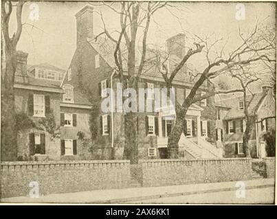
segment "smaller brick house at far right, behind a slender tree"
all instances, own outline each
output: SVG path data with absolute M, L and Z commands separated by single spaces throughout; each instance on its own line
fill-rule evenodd
M 248 111 L 256 124 L 250 137 L 250 154 L 253 158 L 266 157 L 263 134 L 275 129 L 276 113 L 272 88 L 263 86 L 262 92 L 247 96 Z M 243 97 L 226 99 L 215 103 L 217 107 L 217 144 L 223 144 L 224 157 L 244 157 L 243 132 L 245 114 Z

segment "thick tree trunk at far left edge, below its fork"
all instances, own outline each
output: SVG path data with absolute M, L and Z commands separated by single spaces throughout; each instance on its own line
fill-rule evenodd
M 17 129 L 13 85 L 16 51 L 11 48 L 10 51 L 6 49 L 5 60 L 5 77 L 1 93 L 1 161 L 15 161 L 17 157 Z

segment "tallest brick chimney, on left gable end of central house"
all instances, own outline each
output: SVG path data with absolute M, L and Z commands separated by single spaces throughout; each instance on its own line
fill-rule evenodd
M 76 16 L 77 47 L 86 42 L 87 38 L 93 38 L 93 8 L 89 5 L 82 8 Z

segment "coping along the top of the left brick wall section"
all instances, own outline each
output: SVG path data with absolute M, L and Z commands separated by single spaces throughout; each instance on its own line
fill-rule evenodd
M 0 166 L 51 165 L 51 164 L 130 164 L 127 159 L 115 160 L 63 160 L 40 162 L 1 162 Z

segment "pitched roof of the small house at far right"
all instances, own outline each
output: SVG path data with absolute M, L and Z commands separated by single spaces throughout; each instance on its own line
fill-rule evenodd
M 259 92 L 256 94 L 247 95 L 247 103 L 248 103 L 248 112 L 250 116 L 254 116 L 258 106 L 263 101 L 264 97 L 267 95 L 265 92 Z M 230 120 L 234 118 L 242 118 L 245 117 L 245 113 L 243 110 L 239 110 L 239 99 L 242 97 L 236 97 L 232 99 L 225 99 L 223 101 L 218 101 L 215 103 L 216 106 L 219 107 L 228 107 L 230 110 L 223 118 L 224 120 Z

